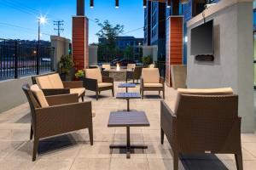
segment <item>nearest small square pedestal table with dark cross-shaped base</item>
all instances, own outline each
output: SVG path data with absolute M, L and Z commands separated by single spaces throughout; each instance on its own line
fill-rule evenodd
M 110 144 L 110 149 L 126 149 L 126 158 L 130 158 L 131 149 L 148 149 L 145 144 L 131 144 L 130 127 L 149 127 L 148 117 L 143 111 L 111 112 L 108 127 L 126 127 L 126 144 Z

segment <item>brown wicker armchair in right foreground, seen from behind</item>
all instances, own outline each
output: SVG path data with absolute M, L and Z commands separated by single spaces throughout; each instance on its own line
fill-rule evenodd
M 171 109 L 172 108 L 172 109 Z M 161 143 L 172 147 L 174 170 L 179 154 L 235 154 L 242 170 L 241 117 L 231 88 L 178 89 L 177 102 L 160 105 Z

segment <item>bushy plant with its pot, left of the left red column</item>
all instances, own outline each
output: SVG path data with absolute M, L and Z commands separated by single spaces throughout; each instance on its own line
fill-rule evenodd
M 62 55 L 59 62 L 61 80 L 72 81 L 74 78 L 73 59 L 71 55 Z

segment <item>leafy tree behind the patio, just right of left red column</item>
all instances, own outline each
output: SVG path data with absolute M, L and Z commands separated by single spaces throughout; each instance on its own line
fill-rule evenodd
M 100 20 L 96 20 L 96 23 L 101 27 L 101 30 L 96 33 L 96 36 L 104 40 L 104 42 L 99 43 L 98 57 L 99 59 L 110 61 L 117 54 L 118 50 L 115 46 L 115 38 L 124 32 L 124 26 L 119 24 L 113 26 L 108 20 L 105 20 L 103 23 Z

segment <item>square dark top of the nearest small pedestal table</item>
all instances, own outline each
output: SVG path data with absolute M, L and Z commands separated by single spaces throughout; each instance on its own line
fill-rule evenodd
M 108 127 L 149 127 L 148 117 L 144 111 L 111 112 Z

